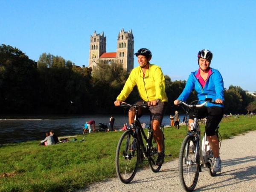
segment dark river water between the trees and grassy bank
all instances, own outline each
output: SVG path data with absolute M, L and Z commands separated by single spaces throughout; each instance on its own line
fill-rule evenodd
M 182 119 L 183 116 L 180 116 Z M 0 120 L 0 144 L 17 143 L 29 140 L 44 140 L 45 133 L 53 130 L 58 137 L 67 135 L 82 134 L 84 123 L 90 119 L 94 119 L 96 127 L 99 122 L 108 125 L 110 116 L 47 116 L 36 117 L 36 119 L 23 117 L 6 118 Z M 114 116 L 115 129 L 122 128 L 125 120 L 124 116 Z M 142 116 L 140 122 L 148 125 L 149 116 Z M 164 125 L 169 125 L 169 116 L 164 116 Z

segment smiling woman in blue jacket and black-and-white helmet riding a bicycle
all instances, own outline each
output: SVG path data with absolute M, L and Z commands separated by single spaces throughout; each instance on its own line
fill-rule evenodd
M 223 102 L 224 102 L 224 86 L 221 73 L 218 70 L 210 67 L 212 60 L 212 52 L 203 49 L 198 52 L 198 65 L 199 69 L 189 75 L 186 86 L 183 92 L 174 101 L 177 105 L 180 100 L 186 101 L 192 90 L 198 93 L 198 100 L 205 100 L 212 98 L 218 104 L 207 103 L 203 108 L 198 108 L 199 119 L 207 117 L 206 135 L 210 147 L 214 154 L 214 168 L 213 171 L 221 171 L 221 159 L 219 156 L 218 137 L 215 134 L 219 122 L 223 117 Z M 200 102 L 199 102 L 200 103 Z M 193 120 L 193 113 L 189 114 L 189 125 Z

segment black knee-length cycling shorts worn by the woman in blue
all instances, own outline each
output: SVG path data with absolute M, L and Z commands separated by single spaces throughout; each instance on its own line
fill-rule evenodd
M 203 119 L 207 117 L 206 128 L 205 132 L 207 136 L 215 135 L 215 129 L 217 128 L 218 124 L 221 122 L 223 117 L 224 110 L 221 107 L 202 107 L 198 108 L 198 119 Z M 194 119 L 195 113 L 192 111 L 189 113 L 189 119 Z

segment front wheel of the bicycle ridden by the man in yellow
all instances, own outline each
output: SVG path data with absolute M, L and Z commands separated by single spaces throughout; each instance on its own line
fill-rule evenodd
M 132 130 L 125 131 L 116 148 L 116 173 L 122 183 L 133 180 L 138 166 L 139 144 Z

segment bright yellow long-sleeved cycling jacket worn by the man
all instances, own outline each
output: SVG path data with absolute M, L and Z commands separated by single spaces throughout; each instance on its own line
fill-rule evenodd
M 163 72 L 157 65 L 149 64 L 149 68 L 146 70 L 144 78 L 141 67 L 138 66 L 134 68 L 125 82 L 125 86 L 123 87 L 121 93 L 116 99 L 125 101 L 135 85 L 137 85 L 140 98 L 144 101 L 148 102 L 155 99 L 160 99 L 162 102 L 168 101 L 165 92 L 165 79 Z

